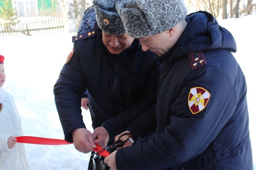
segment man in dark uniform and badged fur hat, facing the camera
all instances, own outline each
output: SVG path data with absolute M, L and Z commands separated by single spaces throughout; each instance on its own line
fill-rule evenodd
M 105 147 L 140 114 L 154 113 L 151 106 L 162 68 L 154 53 L 143 52 L 139 40 L 125 34 L 115 0 L 94 2 L 97 23 L 73 37 L 74 48 L 54 85 L 65 140 L 83 153 L 93 151 L 94 142 Z M 93 134 L 81 114 L 86 89 Z

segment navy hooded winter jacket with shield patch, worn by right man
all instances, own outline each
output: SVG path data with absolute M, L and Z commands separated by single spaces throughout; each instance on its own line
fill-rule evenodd
M 247 86 L 231 54 L 236 42 L 207 12 L 186 21 L 177 43 L 157 57 L 165 64 L 156 136 L 118 150 L 118 170 L 253 170 Z

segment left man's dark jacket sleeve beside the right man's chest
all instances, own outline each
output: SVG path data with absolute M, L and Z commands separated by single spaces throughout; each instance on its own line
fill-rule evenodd
M 117 116 L 107 120 L 102 124 L 108 131 L 110 140 L 113 140 L 116 135 L 122 133 L 129 124 L 133 122 L 142 113 L 151 113 L 151 106 L 156 103 L 157 84 L 162 69 L 162 62 L 152 60 L 148 69 L 147 79 L 142 97 L 134 102 L 127 110 L 119 113 Z M 154 114 L 154 113 L 151 113 Z M 143 121 L 143 120 L 142 120 Z M 137 122 L 134 122 L 137 123 Z M 155 127 L 148 129 L 144 136 L 155 131 Z

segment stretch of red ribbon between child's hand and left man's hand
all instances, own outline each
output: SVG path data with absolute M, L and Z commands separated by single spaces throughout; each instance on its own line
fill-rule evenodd
M 51 138 L 41 138 L 35 136 L 18 136 L 16 137 L 19 143 L 28 144 L 47 144 L 47 145 L 61 145 L 61 144 L 73 144 L 62 139 L 51 139 Z

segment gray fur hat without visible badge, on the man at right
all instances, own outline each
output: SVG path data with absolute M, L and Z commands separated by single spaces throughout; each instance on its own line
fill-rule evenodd
M 117 0 L 116 10 L 126 33 L 134 38 L 173 28 L 187 15 L 183 0 Z

